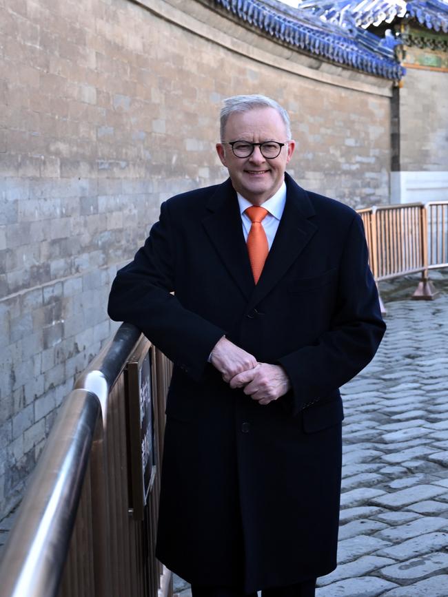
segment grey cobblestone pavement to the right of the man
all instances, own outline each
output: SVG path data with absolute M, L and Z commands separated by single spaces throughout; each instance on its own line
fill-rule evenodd
M 342 388 L 338 567 L 317 597 L 448 597 L 448 293 L 386 307 L 376 357 Z

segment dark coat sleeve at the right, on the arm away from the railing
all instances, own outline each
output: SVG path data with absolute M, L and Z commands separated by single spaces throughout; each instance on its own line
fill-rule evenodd
M 349 227 L 329 330 L 312 346 L 278 359 L 292 384 L 292 411 L 325 399 L 347 383 L 374 357 L 385 333 L 378 292 L 368 265 L 363 222 L 356 214 Z

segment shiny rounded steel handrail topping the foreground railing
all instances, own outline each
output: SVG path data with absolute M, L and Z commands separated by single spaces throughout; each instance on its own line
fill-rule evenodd
M 140 332 L 123 324 L 59 409 L 3 548 L 1 597 L 56 597 L 97 423 Z

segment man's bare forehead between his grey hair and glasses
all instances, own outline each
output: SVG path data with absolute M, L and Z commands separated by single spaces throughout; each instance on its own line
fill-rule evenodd
M 271 107 L 234 112 L 225 125 L 225 136 L 229 140 L 283 140 L 285 134 L 283 118 Z

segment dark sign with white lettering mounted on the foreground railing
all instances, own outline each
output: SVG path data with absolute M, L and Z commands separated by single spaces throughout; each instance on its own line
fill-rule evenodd
M 130 358 L 128 372 L 128 413 L 130 426 L 131 495 L 134 520 L 143 520 L 147 496 L 154 482 L 154 417 L 152 409 L 152 348 L 146 339 L 147 350 L 136 349 Z

